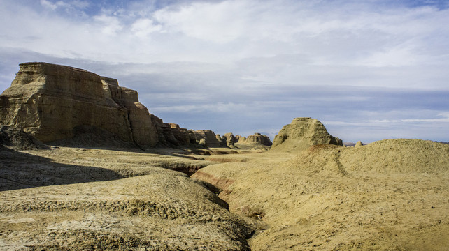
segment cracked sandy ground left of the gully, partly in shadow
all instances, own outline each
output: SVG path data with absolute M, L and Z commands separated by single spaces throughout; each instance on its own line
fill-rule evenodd
M 213 162 L 179 152 L 1 149 L 0 250 L 249 250 L 254 221 L 172 170 Z

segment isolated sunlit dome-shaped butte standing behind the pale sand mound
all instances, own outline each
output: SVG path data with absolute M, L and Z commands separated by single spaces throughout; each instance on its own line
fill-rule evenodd
M 279 131 L 271 150 L 302 151 L 318 144 L 343 146 L 341 139 L 329 135 L 325 126 L 317 119 L 295 118 Z

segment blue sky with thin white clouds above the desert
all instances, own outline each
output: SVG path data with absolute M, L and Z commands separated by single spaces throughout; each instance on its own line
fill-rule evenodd
M 1 0 L 0 91 L 43 61 L 188 129 L 449 142 L 448 24 L 447 0 Z

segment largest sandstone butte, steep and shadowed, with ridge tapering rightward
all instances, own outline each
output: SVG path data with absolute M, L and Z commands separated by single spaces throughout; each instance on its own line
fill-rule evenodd
M 0 95 L 0 118 L 0 124 L 20 128 L 41 142 L 104 130 L 141 147 L 220 146 L 211 130 L 187 130 L 150 114 L 138 93 L 119 86 L 117 79 L 51 63 L 20 64 L 11 86 Z M 271 145 L 266 136 L 251 143 Z

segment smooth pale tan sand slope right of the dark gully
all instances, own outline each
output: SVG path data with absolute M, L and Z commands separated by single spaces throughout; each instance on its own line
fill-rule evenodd
M 266 223 L 252 250 L 448 250 L 448 146 L 390 139 L 273 160 L 192 176 L 222 188 L 231 212 Z

